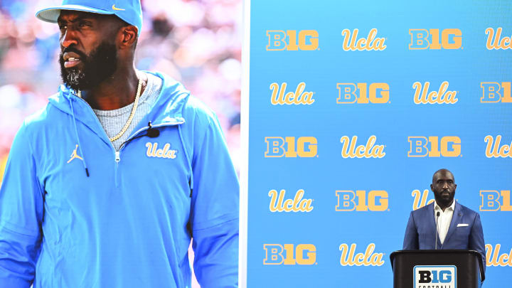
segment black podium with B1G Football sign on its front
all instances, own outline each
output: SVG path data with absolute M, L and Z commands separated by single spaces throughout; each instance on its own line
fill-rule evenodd
M 394 288 L 478 288 L 485 279 L 473 250 L 399 250 L 390 260 Z

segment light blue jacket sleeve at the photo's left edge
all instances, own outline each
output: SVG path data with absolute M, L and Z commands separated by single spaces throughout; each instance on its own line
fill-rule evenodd
M 30 287 L 41 243 L 43 189 L 25 131 L 16 134 L 0 187 L 0 287 Z

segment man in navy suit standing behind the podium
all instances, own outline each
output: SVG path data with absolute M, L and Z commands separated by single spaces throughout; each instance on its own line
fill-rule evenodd
M 434 192 L 435 201 L 410 213 L 403 250 L 476 250 L 481 254 L 485 272 L 485 242 L 480 215 L 454 201 L 456 188 L 452 172 L 440 169 L 434 173 L 430 189 Z

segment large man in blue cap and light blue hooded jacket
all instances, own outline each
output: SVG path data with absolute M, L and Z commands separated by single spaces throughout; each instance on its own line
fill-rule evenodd
M 215 114 L 134 68 L 138 0 L 65 0 L 64 85 L 16 134 L 0 287 L 238 287 L 238 179 Z

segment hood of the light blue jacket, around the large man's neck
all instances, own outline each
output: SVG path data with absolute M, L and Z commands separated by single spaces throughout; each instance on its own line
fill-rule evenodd
M 183 106 L 188 100 L 190 91 L 186 90 L 180 82 L 161 73 L 152 73 L 162 79 L 162 89 L 159 97 L 156 99 L 151 111 L 147 115 L 154 125 L 183 123 Z M 66 114 L 74 114 L 76 119 L 87 125 L 90 123 L 90 111 L 87 111 L 87 102 L 78 97 L 74 90 L 65 85 L 60 85 L 58 93 L 50 96 L 49 102 L 58 110 Z M 73 102 L 73 103 L 72 103 Z M 72 105 L 75 107 L 73 109 Z M 156 115 L 156 118 L 154 118 Z M 89 123 L 88 123 L 89 122 Z

